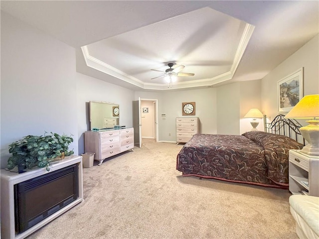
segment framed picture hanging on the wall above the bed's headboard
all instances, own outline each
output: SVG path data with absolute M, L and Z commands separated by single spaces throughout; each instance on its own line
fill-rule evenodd
M 287 113 L 304 97 L 304 68 L 277 82 L 278 112 Z

